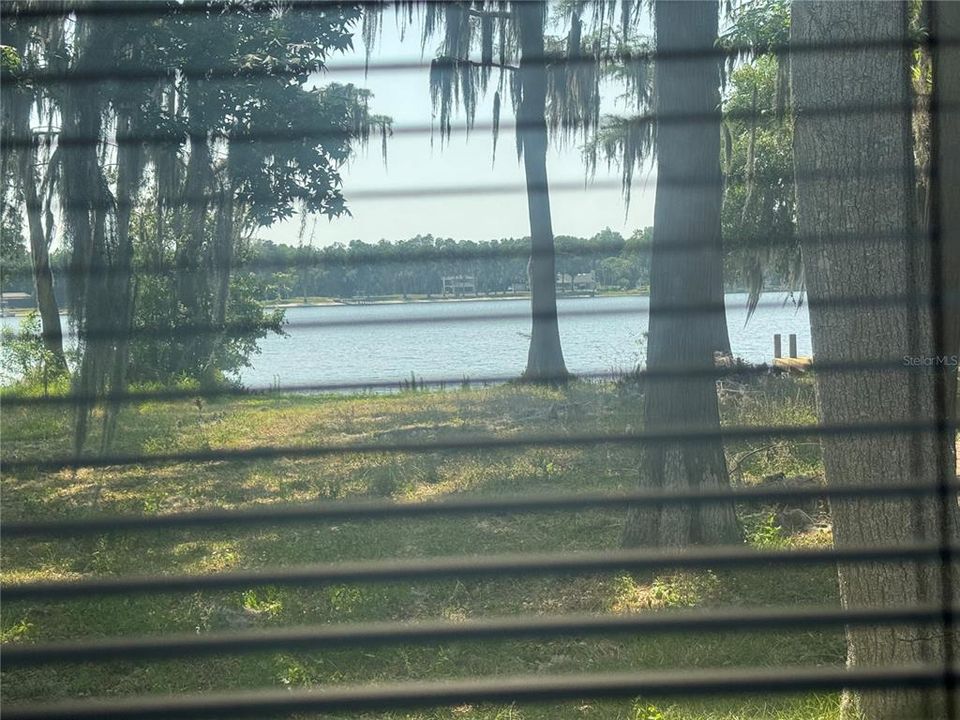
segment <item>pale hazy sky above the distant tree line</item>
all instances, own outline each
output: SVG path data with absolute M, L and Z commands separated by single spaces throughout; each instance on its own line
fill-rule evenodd
M 330 62 L 332 68 L 348 65 L 355 68 L 363 60 L 364 47 L 356 37 L 357 51 Z M 377 70 L 390 62 L 421 60 L 419 30 L 401 39 L 392 14 L 383 22 L 383 35 L 370 59 L 368 75 L 356 69 L 333 71 L 326 81 L 351 82 L 368 88 L 374 94 L 374 112 L 389 115 L 394 126 L 429 127 L 431 104 L 429 69 L 432 52 L 428 48 L 424 65 L 416 70 Z M 495 77 L 495 76 L 494 76 Z M 324 82 L 324 80 L 321 80 Z M 491 85 L 494 79 L 491 80 Z M 349 242 L 358 238 L 377 242 L 381 238 L 401 240 L 417 234 L 489 240 L 500 237 L 522 237 L 529 234 L 526 195 L 523 192 L 523 168 L 517 162 L 512 128 L 501 130 L 497 143 L 496 162 L 492 162 L 493 139 L 489 130 L 492 121 L 493 91 L 479 104 L 476 123 L 482 125 L 470 133 L 454 133 L 448 144 L 440 147 L 439 135 L 430 133 L 398 134 L 389 141 L 387 167 L 380 155 L 379 139 L 362 150 L 343 169 L 343 192 L 353 217 L 328 221 L 319 218 L 306 224 L 306 241 L 316 245 Z M 460 127 L 464 127 L 459 115 Z M 509 101 L 503 103 L 501 123 L 514 120 Z M 655 176 L 648 172 L 635 175 L 629 215 L 625 216 L 619 187 L 619 172 L 614 168 L 598 168 L 596 184 L 584 187 L 584 163 L 578 144 L 553 147 L 547 157 L 551 190 L 554 233 L 589 237 L 604 227 L 629 235 L 636 228 L 653 224 L 653 188 Z M 506 188 L 509 192 L 483 192 L 431 197 L 384 198 L 383 191 L 458 187 Z M 360 192 L 360 196 L 354 196 Z M 363 192 L 377 192 L 377 197 L 363 197 Z M 300 221 L 292 220 L 259 233 L 275 242 L 296 245 Z

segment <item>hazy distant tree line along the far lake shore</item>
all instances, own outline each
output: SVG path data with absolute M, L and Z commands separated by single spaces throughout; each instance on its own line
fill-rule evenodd
M 17 220 L 14 215 L 5 224 L 12 232 L 4 233 L 0 247 L 0 287 L 5 292 L 32 292 L 29 253 L 13 227 Z M 147 250 L 153 244 L 153 228 L 147 216 L 137 225 L 132 234 L 140 264 L 145 266 L 150 264 Z M 557 273 L 573 277 L 592 272 L 600 289 L 645 291 L 650 284 L 652 237 L 652 227 L 638 228 L 626 238 L 610 228 L 589 238 L 557 235 Z M 750 285 L 750 278 L 743 272 L 744 251 L 730 244 L 733 248 L 725 258 L 724 268 L 727 290 L 741 291 Z M 474 278 L 478 294 L 499 295 L 527 285 L 529 248 L 530 239 L 526 237 L 475 241 L 424 234 L 396 242 L 351 240 L 327 247 L 252 239 L 237 249 L 234 270 L 245 288 L 244 302 L 316 297 L 433 297 L 442 294 L 444 277 L 458 275 Z M 53 252 L 51 266 L 58 303 L 69 309 L 69 253 L 63 249 Z M 157 286 L 156 268 L 135 275 L 142 275 L 140 297 L 144 299 Z M 792 287 L 789 269 L 782 273 L 769 269 L 765 284 L 773 289 Z M 162 294 L 159 286 L 157 291 Z

